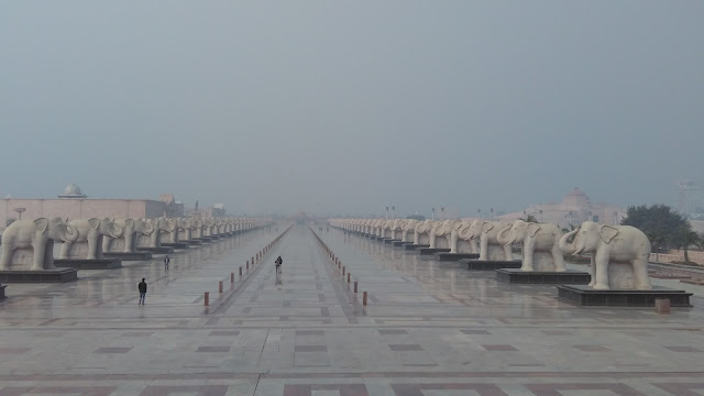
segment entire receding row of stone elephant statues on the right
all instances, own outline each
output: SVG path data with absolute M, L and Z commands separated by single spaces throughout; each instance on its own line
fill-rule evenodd
M 512 261 L 512 246 L 522 245 L 521 270 L 565 272 L 564 254 L 591 255 L 594 289 L 650 289 L 650 240 L 629 226 L 585 221 L 564 232 L 556 224 L 524 220 L 332 219 L 330 223 L 362 234 L 391 238 L 450 253 L 479 253 L 480 261 Z

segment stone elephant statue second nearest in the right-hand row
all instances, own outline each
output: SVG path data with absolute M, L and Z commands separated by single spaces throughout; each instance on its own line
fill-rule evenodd
M 562 234 L 562 230 L 556 224 L 516 220 L 499 231 L 498 239 L 506 246 L 514 243 L 522 244 L 521 271 L 565 272 L 564 257 L 560 250 Z

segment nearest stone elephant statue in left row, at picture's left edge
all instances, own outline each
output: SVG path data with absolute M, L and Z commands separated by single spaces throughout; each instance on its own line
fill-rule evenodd
M 62 218 L 38 218 L 18 220 L 2 233 L 0 271 L 8 271 L 15 264 L 30 264 L 25 257 L 18 257 L 21 251 L 32 250 L 32 271 L 54 270 L 54 241 L 75 242 L 78 230 Z

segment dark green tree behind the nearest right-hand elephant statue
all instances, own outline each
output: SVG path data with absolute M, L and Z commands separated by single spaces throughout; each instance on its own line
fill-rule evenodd
M 626 218 L 620 223 L 645 232 L 650 239 L 653 252 L 658 252 L 659 248 L 668 249 L 681 244 L 683 230 L 692 231 L 692 224 L 684 216 L 662 204 L 628 207 Z

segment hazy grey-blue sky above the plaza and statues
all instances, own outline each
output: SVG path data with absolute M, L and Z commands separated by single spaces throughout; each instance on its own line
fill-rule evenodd
M 704 1 L 2 1 L 0 195 L 521 210 L 704 182 Z

